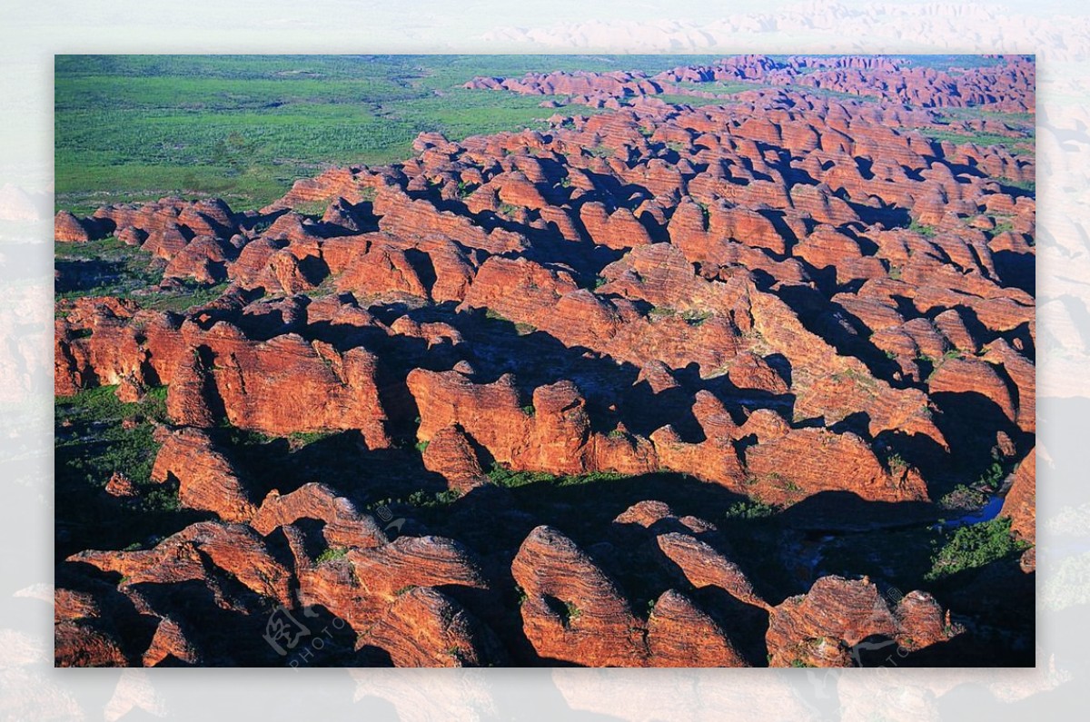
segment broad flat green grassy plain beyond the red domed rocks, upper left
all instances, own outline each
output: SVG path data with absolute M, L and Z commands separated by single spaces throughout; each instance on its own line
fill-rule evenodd
M 529 71 L 659 71 L 691 56 L 59 56 L 57 208 L 168 194 L 256 207 L 323 168 L 540 127 L 543 98 L 461 85 Z M 590 109 L 586 109 L 591 112 Z

